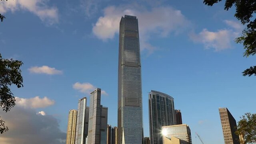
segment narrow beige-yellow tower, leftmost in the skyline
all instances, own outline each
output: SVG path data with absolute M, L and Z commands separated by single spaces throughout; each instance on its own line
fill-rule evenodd
M 75 144 L 76 136 L 76 110 L 69 110 L 68 114 L 68 130 L 66 144 Z

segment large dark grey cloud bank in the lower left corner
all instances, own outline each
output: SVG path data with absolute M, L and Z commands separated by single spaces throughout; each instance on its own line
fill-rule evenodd
M 34 109 L 15 106 L 2 112 L 9 131 L 0 136 L 1 144 L 66 144 L 66 133 L 52 115 L 36 114 Z

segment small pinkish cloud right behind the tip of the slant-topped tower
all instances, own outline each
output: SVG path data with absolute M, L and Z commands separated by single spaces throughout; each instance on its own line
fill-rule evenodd
M 75 90 L 79 90 L 80 92 L 90 94 L 96 89 L 96 86 L 93 86 L 88 82 L 87 83 L 76 82 L 75 84 L 73 84 L 73 88 Z M 101 94 L 108 96 L 105 90 L 101 90 Z

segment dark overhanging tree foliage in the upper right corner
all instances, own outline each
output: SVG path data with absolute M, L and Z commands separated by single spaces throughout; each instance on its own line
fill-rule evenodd
M 204 0 L 204 4 L 212 6 L 222 0 Z M 244 56 L 256 54 L 256 0 L 226 0 L 224 10 L 229 10 L 232 6 L 236 7 L 234 16 L 241 21 L 246 28 L 242 32 L 242 36 L 236 38 L 236 43 L 244 45 Z M 253 20 L 254 19 L 254 20 Z M 242 72 L 243 76 L 256 76 L 256 66 Z

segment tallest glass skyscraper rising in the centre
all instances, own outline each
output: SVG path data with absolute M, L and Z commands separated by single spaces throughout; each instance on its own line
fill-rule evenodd
M 143 143 L 138 19 L 125 15 L 119 29 L 118 144 Z

